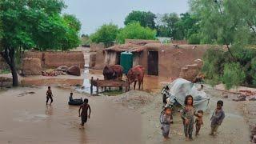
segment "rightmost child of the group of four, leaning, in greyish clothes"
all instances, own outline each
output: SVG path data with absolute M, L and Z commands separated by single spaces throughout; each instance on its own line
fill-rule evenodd
M 214 113 L 213 113 L 212 117 L 210 118 L 210 120 L 211 120 L 210 135 L 215 135 L 216 134 L 216 132 L 218 130 L 218 126 L 221 126 L 222 121 L 225 118 L 225 113 L 222 110 L 222 106 L 223 106 L 223 102 L 218 101 L 217 102 L 217 108 L 214 110 Z

